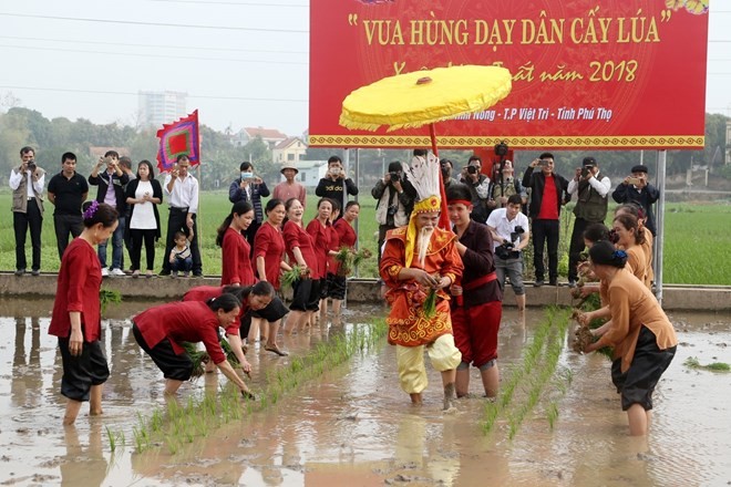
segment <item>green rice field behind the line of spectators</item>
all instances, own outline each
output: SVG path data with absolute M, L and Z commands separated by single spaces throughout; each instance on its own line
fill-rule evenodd
M 375 224 L 375 200 L 370 193 L 361 190 L 361 216 L 359 219 L 360 246 L 377 250 L 378 225 Z M 16 268 L 14 237 L 12 214 L 10 211 L 11 195 L 0 194 L 0 207 L 7 210 L 0 214 L 0 270 L 12 271 Z M 305 221 L 315 215 L 317 197 L 308 195 Z M 167 211 L 161 208 L 163 236 L 166 231 Z M 200 197 L 200 214 L 198 231 L 203 247 L 203 268 L 207 276 L 220 274 L 220 249 L 215 246 L 216 228 L 230 209 L 228 194 L 224 191 L 206 191 Z M 45 203 L 43 219 L 42 271 L 59 269 L 59 256 L 53 231 L 53 206 Z M 568 215 L 568 213 L 566 213 Z M 562 248 L 565 253 L 570 236 L 572 222 L 562 225 Z M 568 235 L 566 235 L 568 232 Z M 27 256 L 30 260 L 30 236 L 27 238 Z M 107 251 L 111 259 L 111 246 Z M 718 284 L 731 286 L 731 204 L 668 204 L 666 208 L 665 269 L 666 283 L 682 284 Z M 157 242 L 157 270 L 162 268 L 164 241 Z M 563 256 L 562 256 L 563 257 Z M 529 259 L 528 259 L 529 260 Z M 566 260 L 566 259 L 563 259 Z M 144 261 L 144 252 L 143 252 Z M 532 276 L 532 262 L 526 262 L 526 278 Z M 125 252 L 125 266 L 128 267 L 128 256 Z M 562 266 L 565 269 L 565 266 Z M 358 270 L 359 277 L 377 276 L 375 258 L 371 258 Z

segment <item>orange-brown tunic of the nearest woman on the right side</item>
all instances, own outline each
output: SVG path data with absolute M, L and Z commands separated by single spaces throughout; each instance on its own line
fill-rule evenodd
M 632 363 L 635 346 L 642 325 L 650 329 L 660 350 L 678 344 L 676 331 L 652 292 L 628 269 L 621 269 L 609 282 L 611 328 L 597 342 L 614 346 L 614 359 L 621 359 L 621 372 Z

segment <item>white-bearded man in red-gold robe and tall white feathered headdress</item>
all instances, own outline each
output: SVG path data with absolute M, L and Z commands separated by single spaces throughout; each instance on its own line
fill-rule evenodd
M 437 227 L 439 170 L 439 162 L 431 154 L 413 158 L 408 177 L 420 200 L 409 225 L 387 234 L 380 273 L 389 288 L 389 343 L 397 346 L 401 388 L 413 404 L 422 403 L 422 391 L 428 385 L 425 349 L 432 366 L 442 374 L 444 410 L 449 410 L 462 355 L 454 345 L 445 288 L 462 276 L 463 266 L 455 235 Z M 429 304 L 431 293 L 435 294 L 434 305 Z

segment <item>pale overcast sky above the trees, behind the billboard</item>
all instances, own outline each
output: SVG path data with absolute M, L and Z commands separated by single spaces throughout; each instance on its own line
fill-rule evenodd
M 12 94 L 48 118 L 134 124 L 138 90 L 182 91 L 216 129 L 299 135 L 308 17 L 307 0 L 4 0 L 0 104 Z M 731 116 L 729 25 L 731 2 L 714 2 L 706 110 Z

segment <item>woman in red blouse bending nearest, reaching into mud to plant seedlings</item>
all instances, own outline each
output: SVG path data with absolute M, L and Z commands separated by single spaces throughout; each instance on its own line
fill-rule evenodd
M 269 297 L 260 297 L 268 303 Z M 238 335 L 240 301 L 224 293 L 206 303 L 200 301 L 173 302 L 150 308 L 134 317 L 132 332 L 137 344 L 163 371 L 165 394 L 177 393 L 183 382 L 191 379 L 193 361 L 185 353 L 182 342 L 203 342 L 210 360 L 241 391 L 241 395 L 254 398 L 246 383 L 226 360 L 218 342 L 218 327 L 229 335 Z

